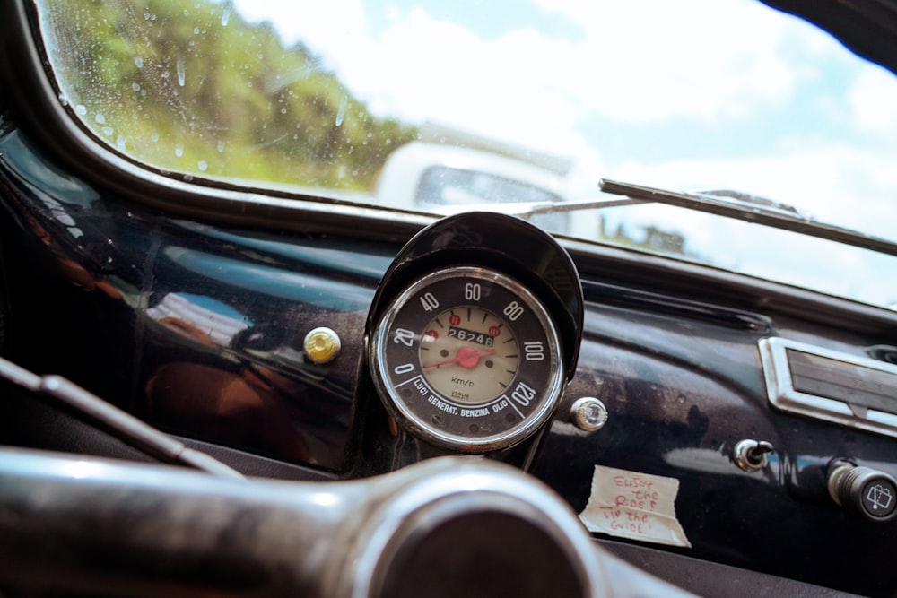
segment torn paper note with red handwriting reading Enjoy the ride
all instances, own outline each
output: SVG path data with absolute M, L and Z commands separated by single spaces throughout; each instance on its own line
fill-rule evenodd
M 675 516 L 678 492 L 675 478 L 596 465 L 579 519 L 589 532 L 691 548 Z

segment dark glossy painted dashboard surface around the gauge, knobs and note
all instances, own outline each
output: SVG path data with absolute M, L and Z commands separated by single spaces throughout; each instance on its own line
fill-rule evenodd
M 10 115 L 0 195 L 7 358 L 68 377 L 253 475 L 357 478 L 446 453 L 395 427 L 365 363 L 371 302 L 406 238 L 153 212 L 67 172 Z M 584 299 L 578 365 L 541 433 L 489 457 L 532 472 L 577 512 L 596 465 L 677 480 L 675 518 L 691 547 L 605 542 L 631 559 L 650 554 L 633 546 L 659 547 L 847 592 L 897 591 L 887 566 L 897 527 L 838 507 L 825 487 L 835 458 L 897 475 L 895 441 L 774 409 L 758 349 L 783 337 L 867 357 L 897 343 L 897 316 L 623 250 L 569 251 Z M 327 365 L 303 354 L 318 326 L 342 342 Z M 3 394 L 4 444 L 143 458 L 71 412 L 8 385 Z M 581 397 L 604 403 L 604 427 L 574 423 Z M 745 439 L 772 446 L 755 472 L 733 458 Z M 645 562 L 690 581 L 685 561 Z

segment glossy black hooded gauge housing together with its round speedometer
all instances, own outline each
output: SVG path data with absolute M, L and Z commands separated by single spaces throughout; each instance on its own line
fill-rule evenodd
M 480 299 L 466 294 L 475 284 L 481 285 Z M 487 291 L 494 295 L 487 299 Z M 442 319 L 452 308 L 460 309 L 460 319 L 449 332 Z M 467 308 L 476 310 L 474 318 Z M 576 368 L 582 314 L 579 274 L 544 230 L 492 212 L 444 218 L 403 247 L 379 284 L 366 329 L 372 386 L 389 418 L 427 445 L 466 453 L 516 446 L 544 429 L 560 403 Z M 526 335 L 518 341 L 518 357 L 502 362 L 508 366 L 504 377 L 496 374 L 498 349 L 493 353 L 489 344 L 490 329 L 501 326 Z M 422 357 L 431 332 L 441 334 L 436 344 L 447 354 Z M 446 344 L 447 334 L 461 338 Z M 484 366 L 489 358 L 495 369 Z M 451 368 L 463 379 L 451 379 Z M 494 386 L 492 393 L 481 384 L 509 388 Z M 466 385 L 478 389 L 465 396 Z M 502 400 L 509 403 L 501 407 Z M 506 420 L 493 417 L 499 412 Z

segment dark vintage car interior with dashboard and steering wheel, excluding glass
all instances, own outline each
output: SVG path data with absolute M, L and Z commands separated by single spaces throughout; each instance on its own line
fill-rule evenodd
M 897 3 L 763 4 L 897 73 Z M 0 7 L 0 596 L 897 594 L 893 308 L 539 225 L 575 201 L 147 165 L 62 97 L 47 5 Z

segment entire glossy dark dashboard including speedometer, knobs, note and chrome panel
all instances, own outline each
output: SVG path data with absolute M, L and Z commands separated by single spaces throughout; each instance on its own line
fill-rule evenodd
M 500 214 L 401 241 L 173 218 L 86 185 L 22 130 L 0 152 L 5 356 L 23 368 L 255 478 L 357 488 L 466 466 L 504 480 L 488 468 L 509 465 L 590 542 L 699 594 L 897 587 L 882 566 L 892 314 L 562 247 Z M 868 377 L 879 386 L 858 398 Z M 5 445 L 147 460 L 4 385 Z M 474 464 L 442 464 L 453 455 Z

